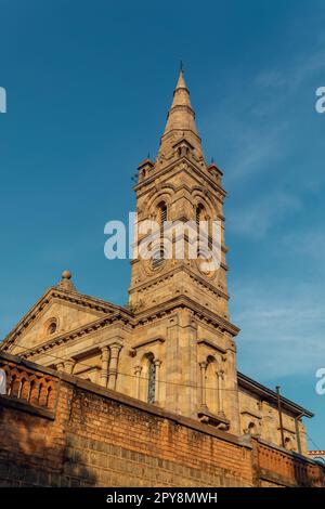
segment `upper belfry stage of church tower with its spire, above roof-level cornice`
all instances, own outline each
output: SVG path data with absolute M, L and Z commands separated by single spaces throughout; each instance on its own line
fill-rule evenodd
M 214 164 L 205 161 L 182 70 L 157 158 L 140 164 L 135 193 L 139 225 L 154 220 L 161 226 L 166 221 L 173 226 L 167 229 L 165 246 L 157 238 L 151 244 L 148 259 L 139 256 L 133 260 L 129 291 L 132 308 L 150 308 L 184 296 L 227 319 L 222 172 Z M 183 227 L 188 222 L 190 231 Z M 206 227 L 204 249 L 195 235 L 200 223 Z M 211 238 L 213 232 L 217 239 Z M 140 234 L 139 243 L 142 239 Z M 182 243 L 184 248 L 180 252 Z M 212 248 L 218 258 L 214 263 Z

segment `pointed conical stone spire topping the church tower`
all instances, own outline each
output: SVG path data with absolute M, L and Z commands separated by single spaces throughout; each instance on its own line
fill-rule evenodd
M 161 136 L 159 155 L 167 155 L 172 144 L 182 138 L 186 138 L 197 149 L 197 155 L 202 155 L 200 138 L 195 125 L 195 112 L 192 108 L 190 92 L 181 66 L 178 83 L 173 91 L 172 104 Z

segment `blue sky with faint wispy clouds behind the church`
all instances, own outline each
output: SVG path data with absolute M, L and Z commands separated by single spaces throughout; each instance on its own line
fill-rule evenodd
M 224 172 L 238 366 L 316 413 L 325 448 L 325 4 L 0 0 L 0 335 L 63 269 L 123 304 L 104 224 L 134 209 L 180 58 L 207 160 Z

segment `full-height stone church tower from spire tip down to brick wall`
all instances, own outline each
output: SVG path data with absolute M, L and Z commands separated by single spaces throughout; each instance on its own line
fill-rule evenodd
M 138 324 L 132 350 L 138 394 L 150 393 L 147 401 L 166 409 L 238 434 L 238 329 L 229 319 L 225 192 L 222 172 L 205 160 L 182 69 L 156 160 L 143 160 L 138 171 L 134 245 L 140 249 L 144 242 L 150 251 L 143 257 L 140 249 L 132 260 L 129 288 Z M 141 229 L 151 221 L 157 225 L 154 237 Z M 202 223 L 203 246 L 192 235 Z M 207 263 L 214 251 L 217 265 Z M 151 373 L 147 360 L 152 370 L 156 366 L 155 381 L 141 375 Z

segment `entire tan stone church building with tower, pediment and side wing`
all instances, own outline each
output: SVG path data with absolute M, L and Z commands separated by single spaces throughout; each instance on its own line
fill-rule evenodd
M 129 305 L 121 308 L 77 291 L 65 271 L 58 285 L 22 318 L 2 350 L 88 380 L 104 390 L 154 405 L 233 436 L 253 436 L 307 454 L 303 416 L 312 414 L 237 373 L 229 316 L 222 172 L 207 165 L 182 71 L 155 161 L 139 166 L 138 222 L 218 221 L 218 269 L 202 261 L 165 256 L 161 238 L 153 257 L 132 261 Z M 177 232 L 171 246 L 177 247 Z M 139 236 L 138 244 L 145 239 Z M 191 246 L 191 233 L 184 234 Z M 213 243 L 210 231 L 208 245 Z M 162 252 L 157 260 L 156 255 Z M 240 453 L 242 454 L 242 453 Z

